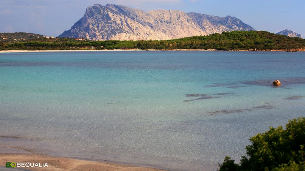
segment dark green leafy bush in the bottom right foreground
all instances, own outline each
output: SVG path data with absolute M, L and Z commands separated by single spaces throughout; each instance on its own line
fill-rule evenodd
M 289 120 L 286 129 L 270 127 L 250 138 L 240 164 L 226 156 L 220 171 L 303 171 L 305 168 L 305 117 Z

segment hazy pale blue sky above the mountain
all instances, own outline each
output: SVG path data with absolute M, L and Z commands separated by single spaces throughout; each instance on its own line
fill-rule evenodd
M 234 16 L 256 30 L 288 29 L 305 38 L 305 0 L 0 0 L 0 33 L 59 36 L 84 16 L 88 6 L 117 4 L 143 11 L 177 9 Z

